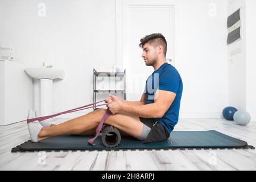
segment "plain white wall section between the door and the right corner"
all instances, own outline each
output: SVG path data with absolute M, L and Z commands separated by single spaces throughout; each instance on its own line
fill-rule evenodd
M 180 115 L 221 117 L 228 104 L 226 1 L 182 0 L 176 68 L 183 78 Z M 216 11 L 214 11 L 216 7 Z

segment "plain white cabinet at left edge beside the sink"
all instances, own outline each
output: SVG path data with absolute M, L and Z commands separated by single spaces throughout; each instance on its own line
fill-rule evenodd
M 0 60 L 0 126 L 24 121 L 32 108 L 32 78 L 19 62 Z

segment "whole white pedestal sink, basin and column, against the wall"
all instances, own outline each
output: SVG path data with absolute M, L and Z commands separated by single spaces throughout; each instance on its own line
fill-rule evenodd
M 33 110 L 40 110 L 42 116 L 51 115 L 53 80 L 63 80 L 65 72 L 55 68 L 27 68 L 25 71 L 33 78 Z

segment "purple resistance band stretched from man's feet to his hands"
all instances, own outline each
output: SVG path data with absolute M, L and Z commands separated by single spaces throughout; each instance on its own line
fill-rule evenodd
M 105 100 L 104 100 L 105 101 Z M 104 101 L 100 101 L 100 102 L 104 102 Z M 43 117 L 38 117 L 38 118 L 31 118 L 31 119 L 27 119 L 27 123 L 31 123 L 33 121 L 44 121 L 46 119 L 49 119 L 49 118 L 53 118 L 53 117 L 56 117 L 57 115 L 61 115 L 61 114 L 67 114 L 67 113 L 73 113 L 73 112 L 76 112 L 76 111 L 80 111 L 80 110 L 85 110 L 85 109 L 89 109 L 89 108 L 92 108 L 92 107 L 96 107 L 96 106 L 91 106 L 91 105 L 96 105 L 100 102 L 94 102 L 92 104 L 88 104 L 88 105 L 85 105 L 85 106 L 81 106 L 81 107 L 77 107 L 75 109 L 71 109 L 71 110 L 67 110 L 67 111 L 63 111 L 61 113 L 57 113 L 57 114 L 53 114 L 53 115 L 47 115 L 47 116 L 43 116 Z M 108 105 L 108 104 L 101 104 L 101 105 L 97 105 L 97 106 L 104 106 L 104 105 Z M 88 107 L 88 106 L 91 106 L 91 107 Z M 85 107 L 85 108 L 84 108 Z M 103 118 L 101 119 L 101 122 L 100 124 L 98 125 L 97 129 L 96 129 L 96 136 L 92 139 L 89 139 L 87 142 L 89 144 L 92 144 L 93 146 L 96 145 L 94 144 L 94 140 L 98 137 L 98 135 L 100 134 L 101 130 L 102 130 L 102 127 L 103 127 L 103 124 L 104 122 L 106 121 L 106 119 L 108 119 L 110 117 L 110 115 L 112 115 L 112 112 L 109 110 L 109 108 L 106 110 L 106 113 L 104 114 Z

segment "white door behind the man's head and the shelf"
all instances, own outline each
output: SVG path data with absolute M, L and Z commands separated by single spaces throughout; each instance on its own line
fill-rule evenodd
M 144 63 L 141 38 L 161 33 L 167 40 L 168 63 L 175 66 L 175 2 L 123 0 L 117 2 L 117 61 L 126 69 L 126 100 L 138 101 L 153 67 Z

